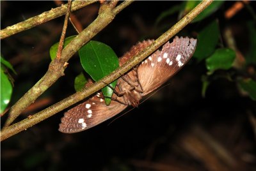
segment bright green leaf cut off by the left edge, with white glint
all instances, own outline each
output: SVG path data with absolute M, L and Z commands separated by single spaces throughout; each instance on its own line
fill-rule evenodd
M 11 100 L 12 96 L 12 84 L 8 79 L 8 76 L 4 73 L 3 67 L 1 67 L 1 108 L 0 113 L 4 112 L 5 108 L 8 106 L 8 103 Z

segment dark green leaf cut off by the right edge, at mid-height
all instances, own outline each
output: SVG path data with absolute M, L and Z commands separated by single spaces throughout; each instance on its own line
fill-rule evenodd
M 252 100 L 256 101 L 256 82 L 251 78 L 240 80 L 240 87 L 246 91 Z

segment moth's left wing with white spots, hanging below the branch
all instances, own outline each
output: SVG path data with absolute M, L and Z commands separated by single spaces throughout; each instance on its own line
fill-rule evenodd
M 103 97 L 102 93 L 97 93 L 92 98 L 65 112 L 61 118 L 59 131 L 77 133 L 87 130 L 119 114 L 127 107 L 127 105 L 114 100 L 111 100 L 110 105 L 107 106 L 100 97 Z

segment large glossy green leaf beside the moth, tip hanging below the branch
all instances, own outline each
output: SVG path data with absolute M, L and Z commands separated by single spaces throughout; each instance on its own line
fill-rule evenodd
M 109 75 L 112 71 L 116 70 L 119 66 L 118 57 L 111 47 L 99 41 L 90 41 L 80 48 L 79 56 L 84 70 L 93 78 L 98 81 L 101 78 Z M 115 87 L 116 80 L 110 84 Z M 113 89 L 106 86 L 102 89 L 105 97 L 106 105 L 111 102 Z

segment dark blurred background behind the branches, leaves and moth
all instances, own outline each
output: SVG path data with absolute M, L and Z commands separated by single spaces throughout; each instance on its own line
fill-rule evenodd
M 157 38 L 173 26 L 179 13 L 154 26 L 161 12 L 180 1 L 138 1 L 120 12 L 93 40 L 102 41 L 118 56 L 147 38 Z M 236 30 L 237 46 L 246 52 L 246 10 L 231 20 L 223 13 L 227 2 L 202 22 L 189 24 L 178 35 L 196 37 L 201 27 L 218 19 L 220 29 Z M 55 8 L 52 1 L 1 1 L 1 29 Z M 74 12 L 83 27 L 97 17 L 99 3 Z M 12 104 L 47 71 L 49 48 L 60 38 L 63 17 L 1 40 L 1 54 L 17 75 Z M 70 24 L 67 36 L 76 34 Z M 83 68 L 76 55 L 61 77 L 17 121 L 74 93 L 74 78 Z M 255 102 L 243 96 L 234 82 L 220 78 L 202 98 L 204 61 L 191 59 L 168 84 L 121 117 L 109 119 L 81 133 L 58 131 L 63 112 L 1 142 L 3 170 L 253 170 L 256 168 L 255 135 L 250 115 Z M 160 77 L 160 76 L 159 76 Z M 41 101 L 46 101 L 41 103 Z M 36 102 L 35 102 L 36 103 Z M 11 105 L 12 105 L 11 104 Z M 130 108 L 129 108 L 130 109 Z M 1 119 L 3 124 L 6 115 Z M 113 121 L 113 122 L 111 122 Z

